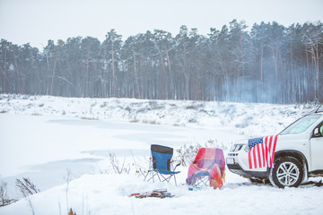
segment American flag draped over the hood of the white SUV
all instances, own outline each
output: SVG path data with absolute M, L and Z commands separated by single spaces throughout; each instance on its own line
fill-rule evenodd
M 249 139 L 249 168 L 274 168 L 278 135 Z

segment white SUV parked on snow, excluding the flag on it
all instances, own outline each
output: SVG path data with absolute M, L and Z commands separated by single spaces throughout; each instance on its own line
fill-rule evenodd
M 298 186 L 309 176 L 323 176 L 323 110 L 303 116 L 277 135 L 274 168 L 249 166 L 249 140 L 236 142 L 226 163 L 231 172 L 251 182 L 275 187 Z

